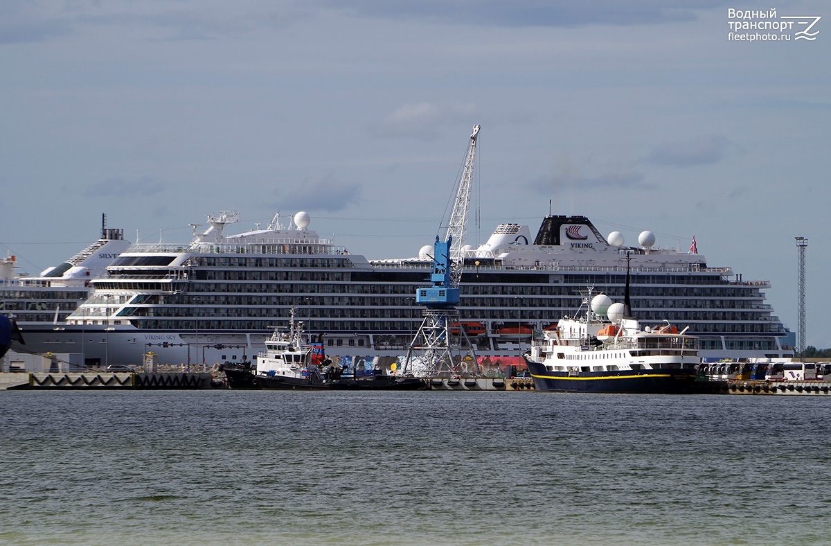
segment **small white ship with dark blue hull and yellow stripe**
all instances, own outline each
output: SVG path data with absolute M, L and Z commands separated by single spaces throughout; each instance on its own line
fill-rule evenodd
M 642 326 L 632 317 L 628 280 L 627 272 L 624 303 L 612 303 L 605 294 L 592 297 L 589 288 L 585 316 L 564 317 L 532 342 L 523 357 L 537 391 L 699 391 L 697 337 L 686 335 L 687 327 L 678 332 L 668 321 Z

